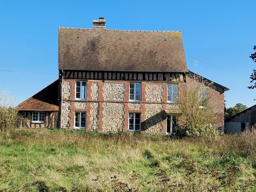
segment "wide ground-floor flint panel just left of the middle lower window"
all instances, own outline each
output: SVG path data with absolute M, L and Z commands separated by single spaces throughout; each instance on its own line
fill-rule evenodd
M 103 132 L 124 130 L 124 103 L 103 103 Z

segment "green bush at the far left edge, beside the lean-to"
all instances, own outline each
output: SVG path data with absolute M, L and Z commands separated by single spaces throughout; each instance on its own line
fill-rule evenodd
M 10 106 L 7 95 L 0 97 L 0 131 L 12 129 L 18 120 L 18 111 Z

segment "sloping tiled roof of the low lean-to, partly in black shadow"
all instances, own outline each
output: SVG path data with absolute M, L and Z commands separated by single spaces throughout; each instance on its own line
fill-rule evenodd
M 17 106 L 18 110 L 58 111 L 58 86 L 59 81 L 54 81 L 43 90 L 21 102 Z

